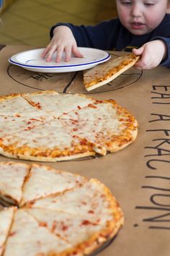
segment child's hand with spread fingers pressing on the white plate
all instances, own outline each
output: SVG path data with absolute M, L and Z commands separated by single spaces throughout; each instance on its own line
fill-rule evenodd
M 55 51 L 57 51 L 55 59 L 56 62 L 61 61 L 63 51 L 66 53 L 65 61 L 69 61 L 71 59 L 71 53 L 78 58 L 83 58 L 83 55 L 79 52 L 73 33 L 70 28 L 66 26 L 55 27 L 53 31 L 53 38 L 42 52 L 41 57 L 46 58 L 46 61 L 49 62 L 51 61 Z

